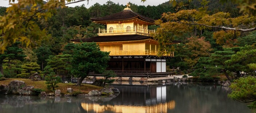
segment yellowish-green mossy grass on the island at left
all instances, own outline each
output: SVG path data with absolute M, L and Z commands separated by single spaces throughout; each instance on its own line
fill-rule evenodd
M 27 86 L 34 86 L 37 89 L 42 89 L 46 93 L 53 93 L 52 91 L 47 90 L 47 86 L 45 84 L 45 81 L 32 81 L 30 79 L 23 79 L 23 78 L 10 78 L 8 80 L 1 81 L 0 84 L 8 85 L 11 81 L 14 81 L 14 80 L 24 81 L 27 84 Z M 61 93 L 63 93 L 63 94 L 68 94 L 67 93 L 67 88 L 72 88 L 75 92 L 79 91 L 79 92 L 85 93 L 85 94 L 88 94 L 92 90 L 102 89 L 102 87 L 93 86 L 93 85 L 89 85 L 89 84 L 81 84 L 81 86 L 76 86 L 76 84 L 58 83 L 58 86 L 59 87 L 56 88 L 56 89 L 60 90 Z

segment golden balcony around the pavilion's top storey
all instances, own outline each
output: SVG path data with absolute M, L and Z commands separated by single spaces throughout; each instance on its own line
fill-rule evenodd
M 113 28 L 113 29 L 100 29 L 99 36 L 102 35 L 126 35 L 126 34 L 140 34 L 149 36 L 151 33 L 154 33 L 154 30 L 148 29 L 138 29 L 136 27 L 131 28 Z

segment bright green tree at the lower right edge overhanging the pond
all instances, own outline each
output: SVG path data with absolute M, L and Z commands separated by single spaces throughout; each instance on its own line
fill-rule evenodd
M 248 105 L 251 109 L 256 109 L 256 78 L 246 77 L 234 80 L 229 86 L 232 90 L 231 94 L 228 94 L 229 98 L 237 100 L 239 102 L 247 103 L 252 102 Z

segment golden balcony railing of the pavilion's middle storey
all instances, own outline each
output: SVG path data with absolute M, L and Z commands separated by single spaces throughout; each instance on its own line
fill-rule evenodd
M 109 52 L 109 51 L 106 51 Z M 119 50 L 119 51 L 111 51 L 110 56 L 157 56 L 157 51 L 152 50 Z M 169 54 L 164 54 L 163 56 L 174 56 L 174 52 L 170 52 Z

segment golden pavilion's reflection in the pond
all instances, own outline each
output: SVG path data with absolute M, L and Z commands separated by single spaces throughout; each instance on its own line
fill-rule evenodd
M 116 113 L 167 113 L 175 108 L 175 101 L 166 99 L 166 86 L 118 86 L 121 93 L 113 98 L 113 103 L 98 104 L 81 102 L 81 106 L 88 112 L 116 112 Z M 137 97 L 137 98 L 134 98 Z M 131 98 L 133 97 L 133 98 Z

